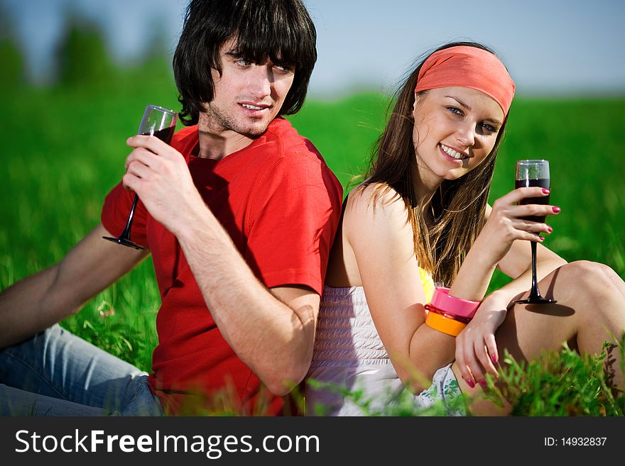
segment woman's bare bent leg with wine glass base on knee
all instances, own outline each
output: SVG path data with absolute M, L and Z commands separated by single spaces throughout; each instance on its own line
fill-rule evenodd
M 560 350 L 564 342 L 581 354 L 598 354 L 612 335 L 620 340 L 625 331 L 625 283 L 606 265 L 587 261 L 564 265 L 540 281 L 540 291 L 558 303 L 516 304 L 509 309 L 495 335 L 500 356 L 505 348 L 517 361 L 528 361 L 542 350 Z M 618 348 L 610 359 L 606 370 L 613 374 L 614 386 L 622 389 Z M 460 374 L 455 364 L 452 370 Z M 479 385 L 472 389 L 461 377 L 458 383 L 464 393 L 481 392 Z M 509 409 L 501 411 L 489 401 L 472 406 L 474 414 L 506 414 Z

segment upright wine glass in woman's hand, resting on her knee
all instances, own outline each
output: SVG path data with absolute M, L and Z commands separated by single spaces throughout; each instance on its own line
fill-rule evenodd
M 516 162 L 515 188 L 541 187 L 549 189 L 549 162 L 548 160 L 518 160 Z M 526 197 L 521 204 L 549 204 L 549 195 L 540 197 Z M 525 217 L 525 220 L 544 223 L 546 216 Z M 538 235 L 538 233 L 536 233 Z M 531 241 L 532 248 L 532 288 L 528 299 L 514 301 L 515 304 L 548 304 L 555 303 L 555 299 L 543 298 L 538 291 L 536 279 L 536 242 Z

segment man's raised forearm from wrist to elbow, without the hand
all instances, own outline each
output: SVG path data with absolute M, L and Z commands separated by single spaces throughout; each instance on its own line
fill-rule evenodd
M 177 235 L 225 340 L 271 392 L 288 392 L 284 383 L 300 382 L 308 370 L 316 309 L 276 299 L 208 209 Z

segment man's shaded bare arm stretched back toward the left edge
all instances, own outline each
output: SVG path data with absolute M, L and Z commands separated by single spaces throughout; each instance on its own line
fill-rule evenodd
M 57 264 L 0 294 L 0 348 L 14 345 L 79 311 L 86 301 L 129 272 L 148 251 L 122 248 L 99 224 Z

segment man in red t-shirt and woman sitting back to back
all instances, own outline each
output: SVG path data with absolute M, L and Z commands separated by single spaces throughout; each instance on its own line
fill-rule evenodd
M 564 342 L 599 353 L 606 330 L 621 335 L 619 276 L 567 264 L 540 245 L 550 227 L 524 219 L 560 212 L 518 205 L 548 192 L 487 204 L 514 94 L 493 52 L 452 43 L 414 70 L 342 209 L 336 177 L 283 118 L 303 105 L 315 40 L 299 0 L 191 1 L 173 60 L 187 127 L 171 145 L 129 138 L 102 223 L 0 294 L 1 414 L 202 414 L 224 409 L 224 390 L 239 414 L 285 414 L 283 395 L 306 377 L 363 389 L 379 406 L 404 391 L 429 406 L 482 389 L 504 348 L 517 360 Z M 134 193 L 143 251 L 102 240 L 124 229 Z M 531 241 L 540 288 L 569 316 L 513 304 L 528 294 Z M 149 253 L 162 306 L 147 374 L 58 322 Z M 485 296 L 495 267 L 513 281 Z M 425 309 L 443 290 L 450 309 L 472 309 L 452 331 Z M 618 369 L 614 384 L 624 385 Z M 307 386 L 305 399 L 308 414 L 361 414 L 334 389 Z

